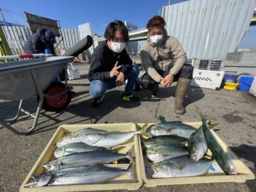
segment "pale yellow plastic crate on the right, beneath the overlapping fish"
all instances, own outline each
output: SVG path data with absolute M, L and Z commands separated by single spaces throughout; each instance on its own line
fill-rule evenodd
M 199 128 L 202 125 L 202 122 L 191 122 L 186 123 L 188 125 L 192 125 L 195 128 Z M 144 124 L 137 124 L 138 129 Z M 253 175 L 252 171 L 241 161 L 239 158 L 232 152 L 230 148 L 221 140 L 221 138 L 212 131 L 218 142 L 220 143 L 221 147 L 225 152 L 228 152 L 234 161 L 234 166 L 236 168 L 237 175 L 225 175 L 225 173 L 220 170 L 216 172 L 208 172 L 206 175 L 201 175 L 197 177 L 174 177 L 174 178 L 164 178 L 164 179 L 154 179 L 150 178 L 149 175 L 146 175 L 145 166 L 148 166 L 150 163 L 149 161 L 143 157 L 142 148 L 140 145 L 140 159 L 141 159 L 141 173 L 144 185 L 147 188 L 156 187 L 156 186 L 163 186 L 163 185 L 175 185 L 175 184 L 198 184 L 198 183 L 213 183 L 213 182 L 245 182 L 246 180 L 255 179 L 255 175 Z M 139 138 L 139 142 L 141 144 L 141 139 Z M 212 156 L 211 151 L 207 151 L 207 156 Z M 218 164 L 216 162 L 213 163 Z

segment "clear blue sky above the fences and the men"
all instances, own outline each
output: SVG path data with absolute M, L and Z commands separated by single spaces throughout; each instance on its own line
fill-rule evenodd
M 180 2 L 182 0 L 171 0 L 171 4 Z M 158 15 L 167 4 L 168 0 L 1 0 L 0 7 L 8 22 L 28 26 L 23 13 L 28 12 L 60 20 L 61 28 L 77 28 L 79 24 L 91 22 L 93 31 L 103 35 L 106 25 L 115 19 L 128 20 L 144 28 L 148 19 Z M 256 51 L 256 26 L 249 28 L 239 47 Z

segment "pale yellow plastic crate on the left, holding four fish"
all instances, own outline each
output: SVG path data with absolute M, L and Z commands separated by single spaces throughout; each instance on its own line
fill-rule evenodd
M 28 191 L 95 191 L 95 190 L 113 190 L 113 189 L 127 189 L 127 190 L 138 190 L 143 184 L 142 175 L 141 175 L 141 161 L 140 157 L 140 145 L 139 145 L 139 136 L 134 136 L 131 140 L 125 142 L 118 150 L 119 153 L 126 153 L 132 147 L 132 156 L 135 157 L 135 167 L 134 174 L 136 175 L 138 181 L 133 181 L 127 175 L 123 175 L 111 181 L 102 183 L 102 184 L 77 184 L 77 185 L 66 185 L 66 186 L 44 186 L 40 188 L 24 188 L 25 184 L 28 184 L 32 181 L 30 179 L 31 175 L 37 175 L 44 172 L 43 164 L 49 162 L 51 159 L 54 159 L 54 150 L 55 150 L 55 143 L 56 141 L 63 138 L 66 134 L 70 132 L 75 132 L 80 129 L 92 127 L 95 129 L 103 129 L 106 131 L 137 131 L 136 124 L 133 123 L 125 123 L 125 124 L 84 124 L 84 125 L 61 125 L 58 127 L 54 135 L 52 136 L 51 140 L 45 147 L 44 151 L 42 152 L 41 156 L 36 161 L 35 165 L 33 166 L 32 170 L 29 172 L 28 176 L 20 186 L 20 192 L 28 192 Z M 127 168 L 128 164 L 113 164 L 118 168 Z

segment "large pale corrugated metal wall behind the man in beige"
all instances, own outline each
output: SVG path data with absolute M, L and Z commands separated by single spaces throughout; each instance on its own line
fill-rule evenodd
M 179 39 L 188 58 L 222 58 L 237 50 L 256 0 L 191 0 L 163 6 L 168 35 Z

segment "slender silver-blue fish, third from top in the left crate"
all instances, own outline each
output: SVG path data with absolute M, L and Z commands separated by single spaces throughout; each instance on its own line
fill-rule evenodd
M 49 163 L 44 164 L 43 166 L 47 170 L 60 170 L 74 166 L 111 163 L 112 161 L 123 159 L 125 157 L 130 161 L 134 162 L 134 159 L 131 156 L 131 150 L 127 152 L 127 154 L 118 154 L 109 150 L 99 150 L 82 152 L 79 154 L 70 154 L 68 156 L 54 159 Z

